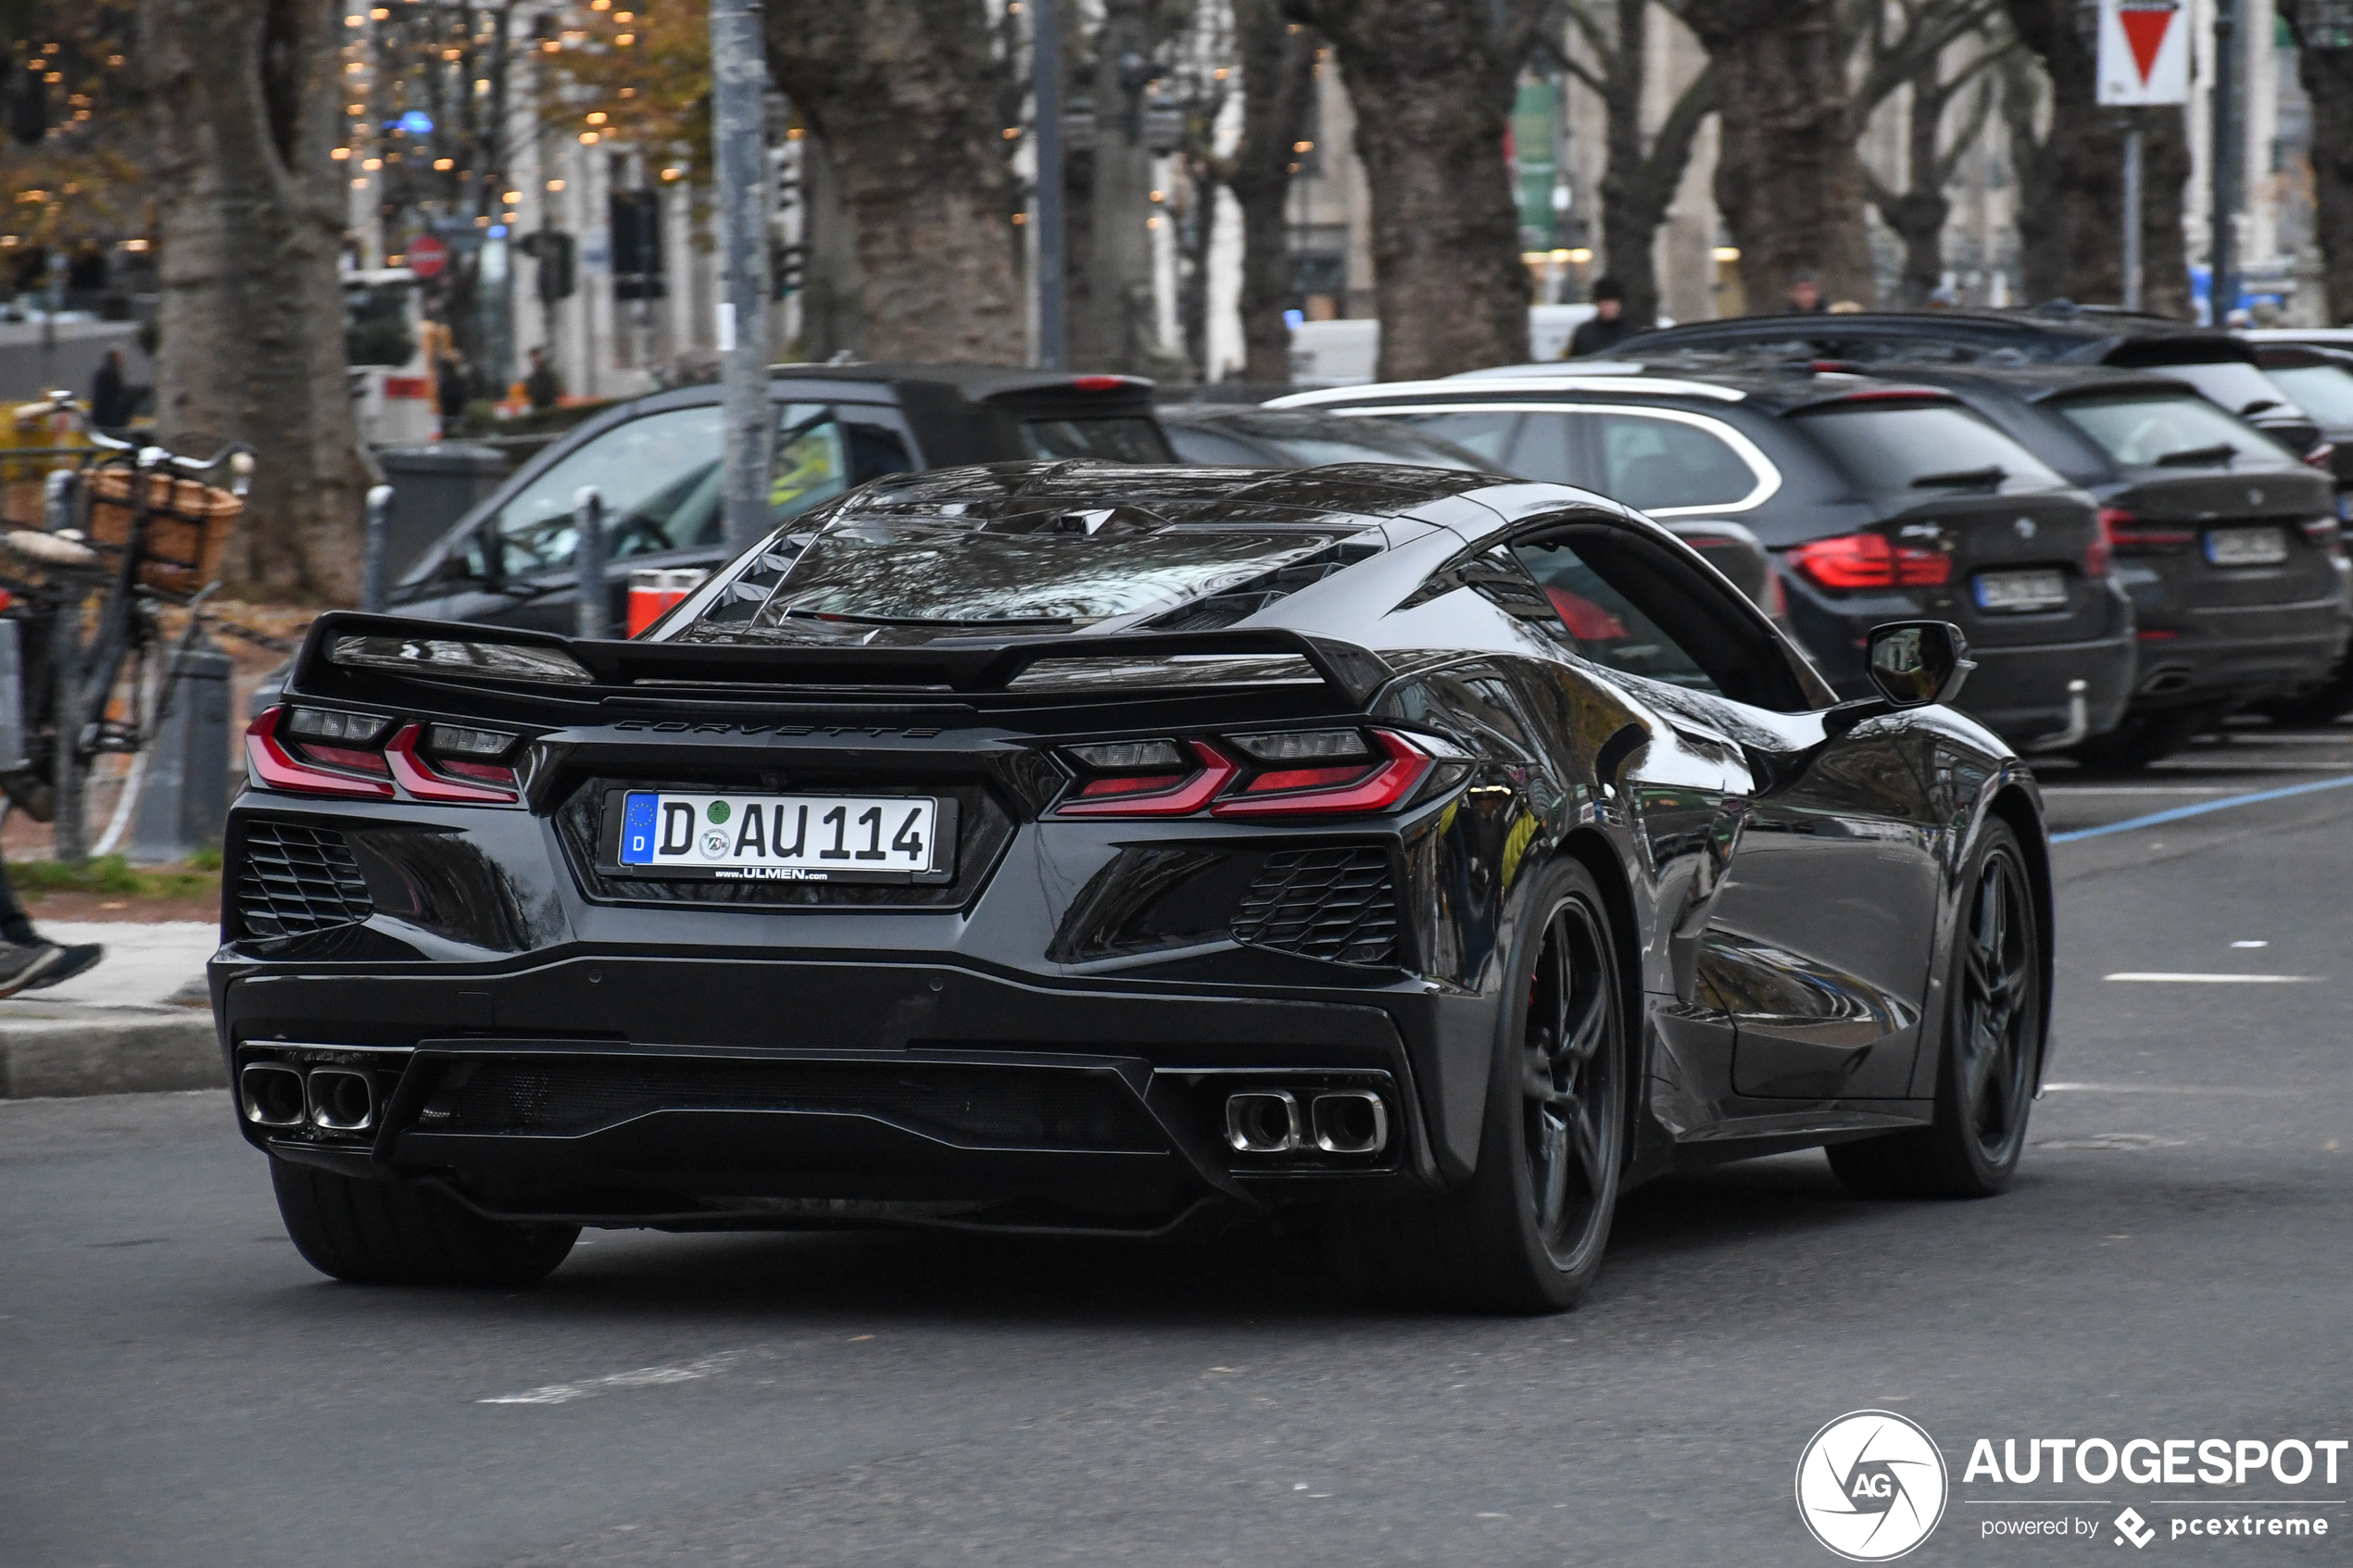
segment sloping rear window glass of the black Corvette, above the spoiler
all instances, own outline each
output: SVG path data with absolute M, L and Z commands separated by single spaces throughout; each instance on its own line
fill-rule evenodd
M 1247 583 L 1332 545 L 1325 534 L 1127 527 L 988 531 L 953 520 L 856 520 L 826 529 L 776 583 L 758 623 L 1094 623 Z M 1071 522 L 1068 531 L 1059 524 Z

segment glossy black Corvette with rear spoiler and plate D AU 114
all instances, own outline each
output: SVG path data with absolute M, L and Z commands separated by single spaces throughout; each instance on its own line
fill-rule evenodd
M 1551 1309 L 1666 1171 L 1988 1194 L 2049 875 L 1962 654 L 1833 703 L 1624 505 L 1379 463 L 896 475 L 635 642 L 327 614 L 228 825 L 238 1119 L 386 1284 L 1289 1211 Z

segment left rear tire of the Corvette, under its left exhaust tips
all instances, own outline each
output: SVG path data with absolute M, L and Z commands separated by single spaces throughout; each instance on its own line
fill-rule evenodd
M 278 1218 L 320 1274 L 355 1286 L 529 1286 L 579 1239 L 579 1225 L 504 1225 L 407 1182 L 372 1182 L 271 1159 Z

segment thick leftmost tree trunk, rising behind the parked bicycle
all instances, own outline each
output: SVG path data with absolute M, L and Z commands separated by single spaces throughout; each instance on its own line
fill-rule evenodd
M 344 364 L 344 167 L 332 0 L 141 0 L 155 115 L 158 428 L 245 440 L 228 574 L 351 602 L 369 463 Z

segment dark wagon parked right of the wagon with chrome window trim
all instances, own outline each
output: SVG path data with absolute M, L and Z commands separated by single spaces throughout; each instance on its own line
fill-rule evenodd
M 2141 668 L 2085 762 L 2139 766 L 2231 708 L 2318 691 L 2346 642 L 2332 482 L 2186 383 L 2099 367 L 1880 364 L 1941 386 L 2099 501 Z

